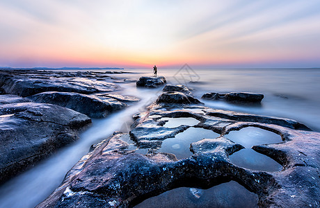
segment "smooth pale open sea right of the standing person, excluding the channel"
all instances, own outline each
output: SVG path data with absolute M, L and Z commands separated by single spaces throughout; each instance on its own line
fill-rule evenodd
M 152 70 L 126 70 L 151 76 Z M 259 92 L 262 105 L 245 107 L 221 101 L 202 101 L 208 107 L 295 119 L 320 131 L 320 69 L 158 69 L 168 83 L 206 92 Z M 127 75 L 122 75 L 127 76 Z

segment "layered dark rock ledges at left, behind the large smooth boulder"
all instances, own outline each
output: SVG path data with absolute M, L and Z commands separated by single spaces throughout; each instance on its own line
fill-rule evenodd
M 121 110 L 128 104 L 139 101 L 132 96 L 113 94 L 120 89 L 118 80 L 110 74 L 123 71 L 0 71 L 0 88 L 4 94 L 15 94 L 1 99 L 0 103 L 50 103 L 68 107 L 92 118 L 104 118 Z M 19 96 L 28 96 L 21 98 Z

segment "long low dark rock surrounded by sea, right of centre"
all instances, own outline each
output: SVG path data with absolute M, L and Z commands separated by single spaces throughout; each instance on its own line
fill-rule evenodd
M 230 92 L 227 94 L 211 92 L 202 96 L 202 99 L 206 100 L 223 100 L 231 103 L 261 103 L 263 98 L 263 94 L 250 92 Z

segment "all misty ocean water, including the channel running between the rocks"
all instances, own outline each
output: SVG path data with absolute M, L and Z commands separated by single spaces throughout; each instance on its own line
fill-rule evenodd
M 90 70 L 94 71 L 94 70 Z M 116 71 L 116 70 L 96 70 Z M 152 69 L 118 70 L 132 73 L 111 74 L 110 82 L 137 80 L 152 76 Z M 169 84 L 182 84 L 193 89 L 200 98 L 206 92 L 259 92 L 262 105 L 234 105 L 223 101 L 202 101 L 207 107 L 268 116 L 285 117 L 320 131 L 320 69 L 158 69 Z M 92 144 L 109 137 L 113 131 L 128 132 L 132 115 L 144 112 L 161 94 L 159 89 L 136 88 L 136 83 L 119 83 L 119 93 L 141 98 L 141 101 L 115 112 L 106 119 L 95 119 L 82 132 L 79 141 L 18 175 L 0 187 L 0 207 L 35 207 L 61 184 L 67 171 L 86 153 Z

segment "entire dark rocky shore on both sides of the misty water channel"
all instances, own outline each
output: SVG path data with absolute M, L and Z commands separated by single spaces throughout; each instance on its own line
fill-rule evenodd
M 118 84 L 133 80 L 111 76 L 118 73 L 124 72 L 0 71 L 0 183 L 79 139 L 91 118 L 139 101 L 120 94 Z M 165 84 L 161 76 L 136 82 Z M 263 98 L 246 92 L 202 96 L 246 105 Z M 129 133 L 114 132 L 91 146 L 38 207 L 320 206 L 320 133 L 303 123 L 212 109 L 184 85 L 165 85 L 133 119 Z M 221 191 L 207 196 L 217 197 L 214 204 L 202 200 L 219 186 L 242 190 L 241 198 Z M 163 194 L 179 202 L 163 202 Z

